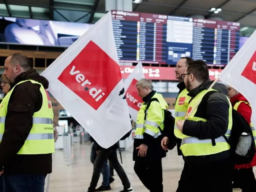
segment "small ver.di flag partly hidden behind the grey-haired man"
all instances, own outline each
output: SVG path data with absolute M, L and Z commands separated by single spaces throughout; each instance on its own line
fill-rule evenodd
M 135 87 L 138 80 L 145 78 L 143 74 L 142 63 L 139 62 L 133 69 L 131 74 L 124 81 L 125 97 L 129 106 L 129 113 L 132 120 L 136 122 L 137 114 L 143 103 L 142 98 L 138 95 L 137 88 Z

